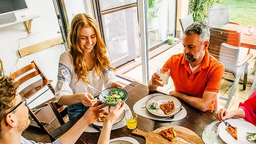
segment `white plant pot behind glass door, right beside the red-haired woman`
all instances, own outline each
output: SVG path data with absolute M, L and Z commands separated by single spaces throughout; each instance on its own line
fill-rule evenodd
M 127 42 L 126 37 L 114 37 L 112 39 L 114 52 L 117 54 L 127 52 Z

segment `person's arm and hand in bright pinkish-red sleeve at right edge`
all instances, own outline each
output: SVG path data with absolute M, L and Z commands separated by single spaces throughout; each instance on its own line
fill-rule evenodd
M 238 109 L 229 112 L 226 109 L 220 109 L 217 113 L 215 113 L 215 117 L 221 121 L 222 119 L 229 118 L 243 118 L 244 120 L 254 124 L 256 126 L 256 90 L 252 93 L 252 95 L 245 101 L 241 102 L 238 106 Z

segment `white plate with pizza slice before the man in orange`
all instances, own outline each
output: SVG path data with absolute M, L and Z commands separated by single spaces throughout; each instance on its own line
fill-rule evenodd
M 174 105 L 175 105 L 175 108 L 174 110 L 166 115 L 162 109 L 160 108 L 160 104 L 164 104 L 164 103 L 167 103 L 168 101 L 173 101 Z M 148 106 L 151 105 L 151 103 L 155 102 L 155 105 L 157 105 L 159 107 L 159 109 L 148 109 Z M 178 113 L 181 109 L 181 103 L 180 101 L 173 97 L 173 96 L 169 96 L 169 95 L 158 95 L 158 96 L 154 96 L 152 98 L 150 98 L 147 102 L 146 102 L 146 108 L 147 110 L 153 114 L 153 115 L 156 115 L 156 116 L 160 116 L 160 117 L 170 117 L 172 115 L 175 115 L 176 113 Z

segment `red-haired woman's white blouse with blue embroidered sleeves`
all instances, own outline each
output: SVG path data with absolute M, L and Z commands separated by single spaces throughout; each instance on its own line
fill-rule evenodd
M 106 53 L 106 56 L 110 60 L 108 52 Z M 93 68 L 91 71 L 89 71 L 87 79 L 90 85 L 99 91 L 103 90 L 104 88 L 108 88 L 112 82 L 116 82 L 115 73 L 110 68 L 106 68 L 103 71 L 103 74 L 101 74 L 101 79 Z M 68 51 L 66 51 L 60 55 L 59 59 L 58 80 L 55 87 L 55 98 L 57 102 L 63 95 L 90 93 L 95 97 L 99 94 L 99 92 L 96 90 L 87 87 L 82 79 L 79 79 L 78 82 L 77 80 L 78 76 L 75 73 L 73 57 Z

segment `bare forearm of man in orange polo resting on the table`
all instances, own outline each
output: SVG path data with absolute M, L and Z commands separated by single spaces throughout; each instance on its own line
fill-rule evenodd
M 200 111 L 206 111 L 211 103 L 206 103 L 202 98 L 188 96 L 184 93 L 176 92 L 176 96 L 189 105 L 199 109 Z

